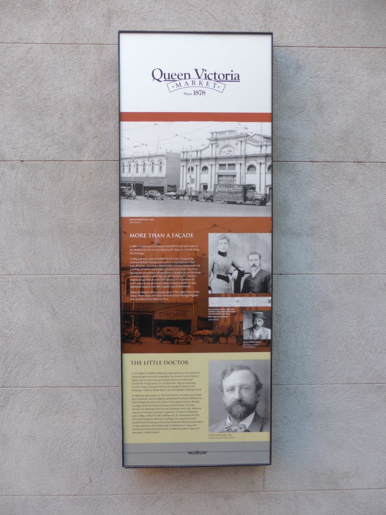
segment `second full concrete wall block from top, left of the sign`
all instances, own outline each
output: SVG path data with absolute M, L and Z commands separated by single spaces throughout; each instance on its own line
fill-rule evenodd
M 0 163 L 0 274 L 119 271 L 118 163 Z

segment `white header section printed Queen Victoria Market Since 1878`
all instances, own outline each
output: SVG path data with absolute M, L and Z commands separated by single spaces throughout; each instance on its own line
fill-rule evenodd
M 119 37 L 121 112 L 271 112 L 269 34 Z

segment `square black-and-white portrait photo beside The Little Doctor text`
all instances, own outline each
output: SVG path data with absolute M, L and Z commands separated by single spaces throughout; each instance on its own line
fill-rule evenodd
M 270 359 L 209 361 L 209 433 L 270 431 Z

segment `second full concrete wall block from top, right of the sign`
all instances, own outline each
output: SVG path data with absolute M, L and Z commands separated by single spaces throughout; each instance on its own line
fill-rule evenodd
M 276 273 L 385 273 L 384 163 L 276 163 Z

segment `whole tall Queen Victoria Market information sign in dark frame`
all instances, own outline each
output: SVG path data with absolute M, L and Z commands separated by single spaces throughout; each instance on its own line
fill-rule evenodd
M 272 34 L 119 32 L 123 465 L 271 460 Z

